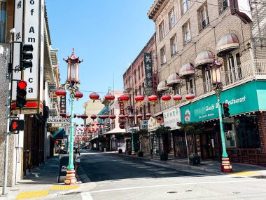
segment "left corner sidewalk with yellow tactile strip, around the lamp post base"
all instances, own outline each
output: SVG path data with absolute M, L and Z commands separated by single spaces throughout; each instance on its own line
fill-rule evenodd
M 64 185 L 63 182 L 57 183 L 59 170 L 58 159 L 59 156 L 53 156 L 45 164 L 34 168 L 23 180 L 13 187 L 8 187 L 8 195 L 0 196 L 0 199 L 29 199 L 42 196 L 59 196 L 89 189 L 88 183 L 83 184 L 79 179 L 76 185 Z

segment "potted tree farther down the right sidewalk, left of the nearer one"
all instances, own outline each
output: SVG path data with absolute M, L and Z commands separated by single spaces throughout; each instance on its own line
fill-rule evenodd
M 168 135 L 171 133 L 169 126 L 162 126 L 158 127 L 155 131 L 155 134 L 157 137 L 162 138 L 162 151 L 161 147 L 159 149 L 160 151 L 160 160 L 161 161 L 167 161 L 168 160 L 168 153 L 169 153 L 169 147 L 168 147 Z M 159 142 L 160 145 L 160 142 Z

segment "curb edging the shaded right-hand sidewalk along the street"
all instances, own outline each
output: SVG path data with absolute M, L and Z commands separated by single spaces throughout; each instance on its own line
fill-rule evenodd
M 176 164 L 176 163 L 172 163 L 172 162 L 169 162 L 169 161 L 159 161 L 157 159 L 146 159 L 146 158 L 138 157 L 138 156 L 127 156 L 125 154 L 115 154 L 115 153 L 111 153 L 111 154 L 116 155 L 116 156 L 124 156 L 124 157 L 127 157 L 129 159 L 142 159 L 142 160 L 146 160 L 146 161 L 154 161 L 154 162 L 158 162 L 158 163 L 161 163 L 161 164 L 167 164 L 169 166 L 178 166 L 179 168 L 190 169 L 190 170 L 193 170 L 193 171 L 202 171 L 202 172 L 208 172 L 208 173 L 216 173 L 216 174 L 219 174 L 219 175 L 226 175 L 227 174 L 227 173 L 223 173 L 223 172 L 219 172 L 219 171 L 210 170 L 210 169 L 207 169 L 207 168 L 201 168 L 201 167 L 196 167 L 196 166 L 188 166 L 188 165 L 184 165 L 184 164 Z

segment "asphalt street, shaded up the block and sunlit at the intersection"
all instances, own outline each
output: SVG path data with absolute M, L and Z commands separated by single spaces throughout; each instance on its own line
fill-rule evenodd
M 266 179 L 180 170 L 153 161 L 81 151 L 84 192 L 60 199 L 266 199 Z

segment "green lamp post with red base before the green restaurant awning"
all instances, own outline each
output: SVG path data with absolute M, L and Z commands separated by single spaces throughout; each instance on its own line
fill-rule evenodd
M 213 89 L 217 95 L 218 114 L 219 114 L 220 128 L 221 128 L 221 140 L 223 148 L 221 171 L 232 172 L 232 166 L 228 158 L 228 153 L 226 152 L 225 132 L 223 131 L 223 117 L 222 117 L 222 109 L 220 103 L 220 94 L 223 90 L 222 81 L 221 81 L 221 68 L 220 68 L 221 66 L 222 63 L 216 60 L 214 60 L 214 62 L 212 62 L 211 65 L 209 65 L 209 67 L 211 67 Z

